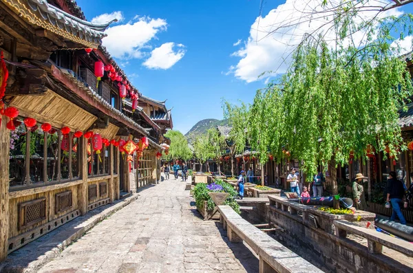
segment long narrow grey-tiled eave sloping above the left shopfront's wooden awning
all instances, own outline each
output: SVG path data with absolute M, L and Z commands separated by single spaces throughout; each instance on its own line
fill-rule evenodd
M 87 83 L 85 83 L 85 81 L 80 76 L 78 76 L 76 73 L 74 73 L 70 69 L 63 69 L 63 68 L 60 68 L 60 69 L 61 69 L 61 72 L 67 75 L 72 81 L 76 82 L 76 85 L 81 87 L 83 91 L 85 91 L 89 96 L 91 96 L 94 100 L 98 101 L 100 105 L 103 105 L 103 107 L 111 111 L 114 116 L 118 116 L 121 120 L 125 120 L 131 123 L 134 126 L 131 129 L 134 129 L 138 131 L 139 133 L 142 133 L 143 135 L 148 135 L 148 132 L 143 127 L 141 127 L 138 123 L 136 123 L 134 120 L 126 116 L 124 113 L 122 113 L 118 109 L 112 107 L 112 105 L 110 105 L 109 102 L 107 102 L 101 96 L 99 96 L 92 89 L 92 87 L 89 87 L 89 85 L 87 85 Z

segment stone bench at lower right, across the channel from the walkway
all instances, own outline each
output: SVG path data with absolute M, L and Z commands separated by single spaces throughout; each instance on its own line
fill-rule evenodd
M 368 241 L 368 250 L 370 253 L 381 253 L 383 245 L 406 256 L 413 257 L 413 244 L 402 239 L 390 237 L 389 235 L 377 232 L 376 230 L 357 226 L 346 220 L 335 220 L 336 235 L 338 237 L 347 237 L 347 232 L 364 237 Z

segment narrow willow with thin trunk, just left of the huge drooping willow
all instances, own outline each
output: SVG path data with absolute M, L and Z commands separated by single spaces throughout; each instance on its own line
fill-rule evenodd
M 270 84 L 264 91 L 258 90 L 248 118 L 251 148 L 257 152 L 261 168 L 261 184 L 264 186 L 264 166 L 268 155 L 282 158 L 284 138 L 284 101 L 277 85 Z

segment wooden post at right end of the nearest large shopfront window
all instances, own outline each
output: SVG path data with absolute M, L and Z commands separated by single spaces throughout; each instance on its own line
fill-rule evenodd
M 81 210 L 81 215 L 87 213 L 87 171 L 89 168 L 89 162 L 87 162 L 87 142 L 86 138 L 79 138 L 79 144 L 81 144 L 81 174 L 83 183 L 78 186 L 78 205 Z M 91 158 L 92 160 L 92 158 Z

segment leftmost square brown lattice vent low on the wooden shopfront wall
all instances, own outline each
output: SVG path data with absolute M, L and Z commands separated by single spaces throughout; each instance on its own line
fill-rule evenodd
M 19 230 L 46 219 L 46 198 L 19 204 Z

